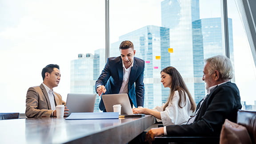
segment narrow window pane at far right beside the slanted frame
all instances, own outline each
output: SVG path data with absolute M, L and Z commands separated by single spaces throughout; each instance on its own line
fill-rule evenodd
M 256 97 L 252 95 L 256 86 L 256 68 L 237 4 L 236 0 L 228 0 L 228 17 L 232 18 L 233 29 L 229 34 L 233 35 L 233 44 L 230 45 L 234 48 L 235 80 L 240 90 L 242 109 L 256 110 Z

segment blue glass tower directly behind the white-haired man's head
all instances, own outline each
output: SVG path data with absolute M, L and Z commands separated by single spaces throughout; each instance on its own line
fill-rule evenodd
M 234 68 L 232 19 L 228 18 L 230 60 Z M 205 95 L 204 82 L 202 81 L 202 70 L 204 59 L 225 55 L 223 47 L 221 18 L 206 18 L 192 22 L 193 35 L 193 70 L 194 70 L 194 93 L 195 101 L 198 103 Z M 234 78 L 233 80 L 234 81 Z

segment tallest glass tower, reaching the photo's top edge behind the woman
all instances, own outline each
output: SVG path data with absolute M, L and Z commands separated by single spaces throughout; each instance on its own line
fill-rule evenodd
M 200 18 L 199 0 L 164 0 L 161 18 L 162 27 L 170 29 L 170 48 L 173 48 L 170 65 L 180 72 L 194 96 L 192 21 Z

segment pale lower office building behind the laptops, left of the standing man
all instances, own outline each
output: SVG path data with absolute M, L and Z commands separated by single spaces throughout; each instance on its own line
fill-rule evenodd
M 96 93 L 95 81 L 100 76 L 105 65 L 105 50 L 95 50 L 95 55 L 78 54 L 77 60 L 71 61 L 70 92 L 71 93 Z M 100 96 L 96 96 L 94 112 L 99 112 Z

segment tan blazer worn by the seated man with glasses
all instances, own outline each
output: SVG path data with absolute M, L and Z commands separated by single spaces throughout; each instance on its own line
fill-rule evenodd
M 26 96 L 26 116 L 31 117 L 50 117 L 52 114 L 48 92 L 44 85 L 28 88 Z M 55 105 L 65 104 L 60 94 L 54 92 Z

